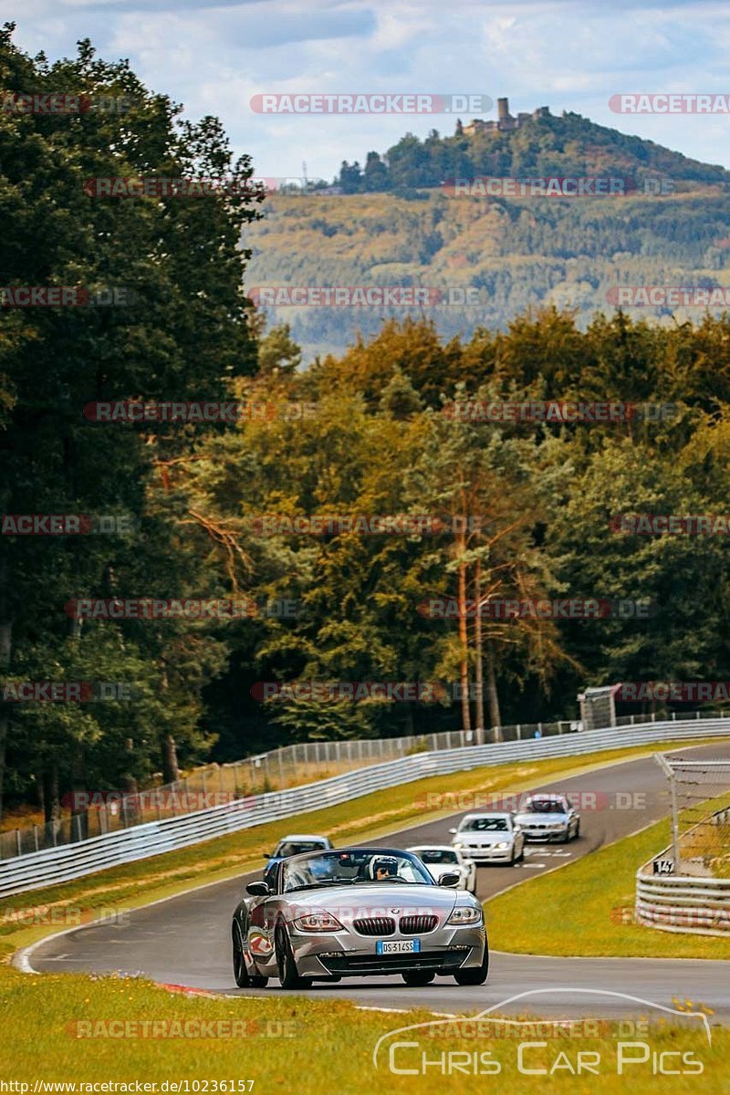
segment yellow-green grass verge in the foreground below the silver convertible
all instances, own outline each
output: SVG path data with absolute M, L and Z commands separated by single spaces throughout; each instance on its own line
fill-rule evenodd
M 397 990 L 393 995 L 397 1006 Z M 487 984 L 485 1006 L 491 1001 L 494 993 Z M 176 1090 L 185 1092 L 187 1081 L 188 1092 L 251 1090 L 253 1095 L 278 1091 L 372 1095 L 375 1090 L 396 1095 L 443 1095 L 444 1086 L 448 1091 L 467 1090 L 470 1077 L 472 1084 L 479 1085 L 476 1090 L 509 1090 L 510 1095 L 544 1095 L 546 1083 L 553 1090 L 552 1081 L 560 1095 L 618 1095 L 627 1080 L 642 1095 L 720 1095 L 730 1090 L 730 1030 L 720 1028 L 712 1030 L 711 1047 L 700 1030 L 669 1024 L 642 1034 L 640 1039 L 624 1035 L 634 1047 L 639 1040 L 647 1045 L 647 1059 L 626 1068 L 624 1075 L 617 1074 L 621 1050 L 616 1035 L 551 1040 L 549 1036 L 528 1034 L 525 1040 L 532 1040 L 533 1046 L 526 1050 L 523 1069 L 544 1069 L 545 1073 L 525 1075 L 519 1071 L 519 1042 L 514 1038 L 488 1034 L 478 1040 L 474 1036 L 444 1037 L 449 1030 L 444 1026 L 438 1028 L 442 1033 L 439 1040 L 430 1033 L 437 1028 L 389 1039 L 375 1070 L 372 1054 L 378 1040 L 402 1026 L 432 1019 L 422 1010 L 383 1014 L 360 1011 L 346 1002 L 277 999 L 276 992 L 270 999 L 256 1000 L 183 996 L 144 982 L 94 981 L 81 976 L 25 978 L 21 984 L 20 975 L 3 978 L 0 1003 L 0 1074 L 5 1081 L 27 1083 L 31 1093 L 39 1079 L 77 1085 L 141 1081 L 155 1083 L 158 1093 L 165 1091 L 165 1082 L 166 1091 L 175 1091 L 171 1084 L 183 1082 Z M 149 1024 L 148 1031 L 154 1031 L 157 1024 L 158 1035 L 143 1037 L 142 1021 Z M 170 1036 L 161 1036 L 163 1029 Z M 200 1037 L 200 1031 L 207 1036 Z M 236 1033 L 230 1036 L 232 1031 Z M 389 1048 L 396 1040 L 412 1045 L 394 1051 L 393 1064 L 410 1072 L 395 1073 L 389 1068 Z M 598 1061 L 592 1058 L 596 1075 L 571 1074 L 578 1051 L 600 1054 Z M 637 1048 L 624 1051 L 635 1059 L 645 1056 Z M 657 1074 L 658 1058 L 652 1054 L 664 1051 L 672 1054 L 664 1059 L 665 1068 L 688 1069 L 677 1053 L 681 1051 L 692 1054 L 688 1061 L 693 1070 L 700 1062 L 703 1073 Z M 433 1063 L 424 1067 L 424 1057 Z M 199 1082 L 197 1088 L 194 1081 Z M 253 1088 L 245 1081 L 253 1081 Z M 77 1093 L 80 1091 L 83 1088 L 77 1086 Z

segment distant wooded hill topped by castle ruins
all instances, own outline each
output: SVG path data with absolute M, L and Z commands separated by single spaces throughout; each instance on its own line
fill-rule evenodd
M 369 164 L 373 177 L 372 158 Z M 394 193 L 269 196 L 266 219 L 244 240 L 253 252 L 247 288 L 420 286 L 452 298 L 471 289 L 472 307 L 433 303 L 431 295 L 425 309 L 451 335 L 503 328 L 526 308 L 549 303 L 575 308 L 584 324 L 594 311 L 613 310 L 606 295 L 617 286 L 730 287 L 730 173 L 579 115 L 540 117 L 508 132 L 422 142 L 407 136 L 384 165 Z M 449 196 L 438 185 L 483 174 L 618 176 L 641 187 L 661 175 L 674 193 L 485 198 Z M 306 359 L 339 351 L 358 330 L 375 333 L 384 318 L 415 309 L 266 311 L 270 322 L 291 324 Z M 663 322 L 702 314 L 670 307 L 631 312 Z

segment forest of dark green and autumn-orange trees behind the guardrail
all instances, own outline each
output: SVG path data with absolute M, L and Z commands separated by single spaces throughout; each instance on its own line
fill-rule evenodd
M 2 515 L 134 515 L 123 534 L 0 535 L 0 794 L 48 817 L 290 741 L 478 725 L 474 703 L 264 703 L 262 681 L 484 683 L 487 727 L 575 716 L 587 684 L 728 677 L 727 537 L 635 537 L 617 514 L 722 514 L 730 316 L 663 327 L 555 308 L 443 337 L 419 316 L 301 368 L 244 292 L 260 195 L 94 200 L 90 176 L 237 177 L 220 125 L 181 123 L 88 43 L 48 66 L 1 46 L 4 85 L 129 95 L 103 114 L 0 114 L 3 286 L 125 286 L 126 308 L 0 312 Z M 459 420 L 457 401 L 672 404 L 663 420 Z M 225 425 L 101 423 L 94 401 L 236 401 Z M 278 408 L 278 410 L 277 410 Z M 291 413 L 280 413 L 289 408 Z M 304 413 L 306 408 L 306 413 Z M 263 534 L 264 515 L 437 515 L 439 534 Z M 460 520 L 474 518 L 463 531 Z M 453 519 L 454 533 L 448 531 Z M 3 526 L 4 529 L 4 526 Z M 649 619 L 431 620 L 430 597 L 650 601 Z M 78 598 L 251 598 L 230 621 L 83 620 Z M 268 611 L 297 602 L 290 616 Z M 23 681 L 130 700 L 21 703 Z M 252 692 L 252 689 L 254 690 Z

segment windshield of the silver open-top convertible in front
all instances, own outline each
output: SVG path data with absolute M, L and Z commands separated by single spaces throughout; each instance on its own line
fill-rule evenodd
M 352 852 L 322 852 L 288 860 L 282 867 L 281 890 L 318 886 L 416 883 L 433 886 L 428 871 L 409 852 L 357 849 Z

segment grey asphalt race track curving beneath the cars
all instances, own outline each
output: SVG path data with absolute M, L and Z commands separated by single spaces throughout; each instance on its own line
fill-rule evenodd
M 695 757 L 730 758 L 730 742 L 718 741 L 699 749 L 682 749 Z M 517 881 L 537 876 L 551 867 L 587 855 L 603 844 L 627 835 L 669 814 L 665 779 L 651 758 L 613 764 L 570 780 L 541 784 L 541 789 L 595 792 L 600 808 L 581 809 L 581 834 L 570 844 L 529 844 L 523 864 L 480 866 L 477 894 L 483 900 Z M 601 793 L 605 793 L 604 796 Z M 621 793 L 621 799 L 617 799 Z M 638 799 L 635 796 L 644 796 Z M 607 796 L 607 797 L 606 797 Z M 449 828 L 462 814 L 404 829 L 371 846 L 406 846 L 422 842 L 448 843 Z M 281 832 L 296 831 L 298 823 L 282 822 Z M 638 866 L 638 864 L 637 864 Z M 189 894 L 131 912 L 124 924 L 99 924 L 76 929 L 33 949 L 33 969 L 39 972 L 123 971 L 144 973 L 157 981 L 224 991 L 231 995 L 280 993 L 278 981 L 267 989 L 237 989 L 232 976 L 231 913 L 247 881 L 260 873 L 217 883 Z M 524 901 L 531 887 L 523 888 Z M 606 909 L 606 915 L 610 910 Z M 487 929 L 489 926 L 487 910 Z M 475 1013 L 519 993 L 536 992 L 511 1005 L 507 1014 L 546 1016 L 647 1015 L 648 1008 L 622 996 L 605 996 L 600 990 L 627 993 L 673 1007 L 673 998 L 709 1005 L 716 1022 L 730 1019 L 728 963 L 679 959 L 547 958 L 510 955 L 499 950 L 499 940 L 489 937 L 491 966 L 487 983 L 477 988 L 457 986 L 451 978 L 437 978 L 425 988 L 408 988 L 397 978 L 344 979 L 314 982 L 306 992 L 291 993 L 312 999 L 350 999 L 361 1006 L 406 1010 L 417 1005 L 454 1014 Z M 538 992 L 537 990 L 548 990 Z M 599 990 L 577 992 L 576 990 Z

